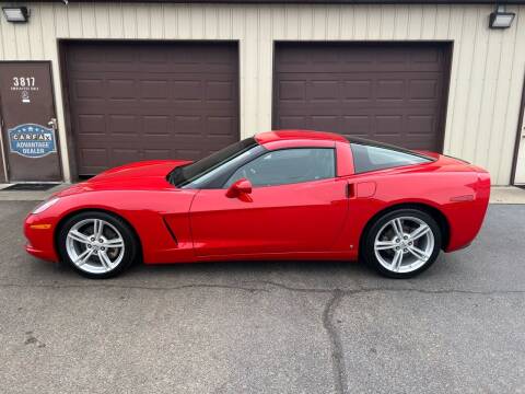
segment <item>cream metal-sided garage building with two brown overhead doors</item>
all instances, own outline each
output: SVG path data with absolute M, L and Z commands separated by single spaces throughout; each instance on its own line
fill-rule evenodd
M 0 181 L 74 181 L 307 128 L 525 184 L 522 3 L 2 2 Z M 27 150 L 18 139 L 37 125 L 52 138 Z

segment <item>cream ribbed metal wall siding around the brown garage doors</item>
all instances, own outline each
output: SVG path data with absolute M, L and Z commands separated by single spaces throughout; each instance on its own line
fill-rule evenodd
M 525 73 L 525 5 L 489 30 L 493 5 L 27 3 L 27 24 L 0 18 L 0 60 L 52 60 L 69 179 L 57 38 L 240 42 L 241 135 L 271 128 L 273 40 L 453 40 L 444 152 L 509 184 Z M 522 50 L 521 50 L 522 49 Z

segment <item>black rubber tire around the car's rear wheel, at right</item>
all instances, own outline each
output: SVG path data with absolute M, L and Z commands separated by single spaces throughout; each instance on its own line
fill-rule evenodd
M 385 225 L 396 218 L 416 218 L 416 219 L 419 219 L 422 222 L 424 222 L 430 228 L 430 231 L 432 232 L 431 235 L 433 235 L 433 248 L 432 248 L 432 246 L 429 246 L 429 248 L 432 250 L 432 252 L 430 253 L 430 257 L 428 257 L 428 259 L 421 266 L 419 266 L 417 269 L 413 269 L 413 270 L 410 270 L 410 271 L 404 271 L 404 273 L 394 271 L 394 270 L 390 270 L 390 269 L 386 268 L 384 266 L 384 264 L 382 264 L 376 256 L 376 253 L 375 253 L 376 251 L 374 248 L 374 244 L 375 244 L 375 240 L 377 237 L 378 232 L 380 231 L 382 231 L 382 232 L 388 231 L 387 230 L 388 228 L 387 227 L 385 228 Z M 408 224 L 410 224 L 411 221 L 407 220 L 407 221 L 404 221 L 404 223 L 405 222 L 408 222 Z M 394 231 L 394 229 L 392 229 L 392 231 Z M 408 232 L 409 229 L 404 228 L 404 232 L 405 231 Z M 393 235 L 393 236 L 395 236 L 395 235 Z M 396 242 L 396 240 L 397 240 L 397 237 L 393 241 L 389 241 L 389 242 Z M 418 242 L 423 242 L 423 241 L 427 241 L 427 239 L 424 239 L 422 241 L 418 241 Z M 430 243 L 430 245 L 432 243 Z M 389 212 L 381 216 L 380 218 L 375 219 L 374 222 L 371 223 L 371 225 L 369 227 L 369 229 L 364 233 L 364 236 L 363 236 L 363 240 L 362 240 L 362 243 L 361 243 L 361 256 L 364 259 L 364 262 L 366 263 L 366 265 L 369 265 L 370 267 L 375 269 L 381 275 L 386 276 L 388 278 L 405 279 L 405 278 L 415 277 L 415 276 L 421 274 L 422 271 L 429 269 L 429 267 L 435 262 L 435 259 L 438 258 L 438 255 L 440 254 L 441 244 L 442 244 L 442 235 L 441 235 L 440 227 L 436 223 L 436 221 L 429 213 L 427 213 L 422 210 L 419 210 L 419 209 L 401 208 L 401 209 L 396 209 L 394 211 L 389 211 Z M 412 245 L 412 244 L 410 244 L 410 245 Z M 416 242 L 413 242 L 413 245 L 416 246 Z M 388 247 L 390 247 L 390 246 L 388 246 Z M 388 251 L 381 251 L 380 255 L 383 257 L 383 256 L 385 256 L 386 253 L 395 254 L 396 253 L 396 247 L 394 247 L 392 250 L 388 250 Z M 404 246 L 401 246 L 400 248 L 401 248 L 401 252 L 405 250 Z M 399 250 L 399 247 L 397 247 L 397 250 Z M 410 254 L 410 258 L 416 259 L 415 256 L 411 256 L 411 252 L 406 252 L 406 254 L 404 254 L 404 256 L 407 256 L 409 254 Z M 384 258 L 384 260 L 386 258 Z M 422 262 L 423 259 L 421 258 L 420 260 Z M 419 264 L 421 264 L 421 263 L 419 263 Z M 413 265 L 415 265 L 415 267 L 417 267 L 416 263 Z M 410 268 L 407 267 L 407 269 L 410 269 Z

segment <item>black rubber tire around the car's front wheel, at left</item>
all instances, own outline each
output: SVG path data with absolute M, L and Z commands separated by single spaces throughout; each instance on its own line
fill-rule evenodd
M 110 225 L 108 227 L 109 230 L 105 230 L 106 233 L 107 231 L 112 231 L 110 227 L 114 227 L 118 232 L 120 233 L 122 240 L 124 240 L 124 252 L 121 258 L 119 258 L 119 263 L 115 265 L 115 267 L 110 268 L 110 270 L 105 271 L 105 273 L 92 273 L 88 271 L 79 266 L 77 266 L 71 257 L 68 254 L 67 250 L 67 237 L 68 233 L 71 230 L 71 228 L 82 221 L 90 220 L 90 219 L 101 219 L 104 220 L 105 222 L 109 223 Z M 89 224 L 86 224 L 89 225 Z M 129 227 L 128 223 L 126 223 L 122 219 L 120 219 L 117 216 L 101 212 L 101 211 L 84 211 L 80 212 L 78 215 L 72 216 L 71 218 L 67 219 L 66 222 L 60 227 L 60 230 L 57 235 L 57 246 L 58 246 L 58 252 L 60 255 L 60 258 L 63 263 L 68 264 L 70 267 L 72 267 L 77 273 L 80 275 L 90 278 L 90 279 L 107 279 L 107 278 L 113 278 L 116 277 L 117 275 L 121 274 L 126 268 L 128 268 L 137 258 L 137 253 L 139 250 L 139 244 L 137 241 L 137 237 L 132 231 L 132 229 Z M 91 246 L 90 246 L 91 247 Z M 85 250 L 84 250 L 85 251 Z M 107 253 L 109 254 L 110 248 L 107 248 Z M 91 260 L 95 258 L 95 256 L 90 257 Z M 96 263 L 96 259 L 94 260 Z M 93 263 L 93 264 L 94 264 Z M 102 263 L 101 263 L 102 266 Z

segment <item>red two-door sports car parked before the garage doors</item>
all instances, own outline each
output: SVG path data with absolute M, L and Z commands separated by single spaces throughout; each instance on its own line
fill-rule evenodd
M 108 170 L 37 206 L 28 253 L 90 278 L 145 264 L 363 259 L 408 278 L 467 246 L 489 174 L 438 153 L 336 134 L 272 131 L 197 162 Z

